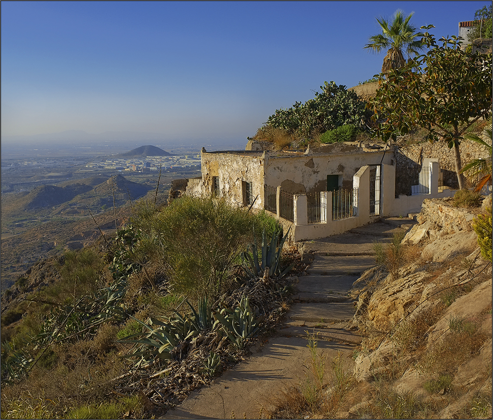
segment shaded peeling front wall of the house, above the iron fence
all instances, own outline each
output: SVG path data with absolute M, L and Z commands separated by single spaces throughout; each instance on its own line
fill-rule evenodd
M 339 186 L 352 188 L 352 176 L 365 165 L 380 164 L 381 151 L 363 151 L 348 154 L 313 153 L 298 156 L 270 156 L 265 166 L 265 184 L 278 186 L 293 194 L 325 191 L 327 175 L 340 175 Z M 395 164 L 393 151 L 387 150 L 383 164 Z

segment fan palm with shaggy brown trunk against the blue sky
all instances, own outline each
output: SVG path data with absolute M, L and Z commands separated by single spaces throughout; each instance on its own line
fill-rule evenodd
M 409 23 L 413 14 L 405 17 L 400 10 L 397 10 L 392 22 L 384 17 L 377 17 L 382 34 L 370 36 L 369 42 L 363 48 L 375 53 L 388 49 L 382 73 L 404 66 L 406 64 L 404 52 L 410 57 L 411 54 L 416 55 L 424 48 L 421 41 L 423 34 L 417 32 L 416 27 Z

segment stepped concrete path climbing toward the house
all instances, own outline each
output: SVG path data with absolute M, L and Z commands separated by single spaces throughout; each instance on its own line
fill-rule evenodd
M 361 273 L 374 265 L 373 242 L 388 242 L 393 233 L 403 232 L 414 223 L 408 218 L 385 218 L 341 235 L 306 242 L 315 259 L 307 276 L 299 278 L 295 304 L 277 335 L 162 418 L 265 418 L 263 409 L 272 406 L 280 391 L 299 384 L 305 376 L 307 331 L 318 334 L 317 347 L 328 360 L 342 352 L 350 367 L 352 350 L 361 338 L 346 329 L 354 315 L 348 291 Z

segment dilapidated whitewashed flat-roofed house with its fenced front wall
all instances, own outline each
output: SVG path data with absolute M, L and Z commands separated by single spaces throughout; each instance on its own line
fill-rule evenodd
M 395 195 L 393 146 L 334 143 L 305 151 L 201 153 L 202 177 L 187 194 L 265 209 L 290 224 L 294 241 L 342 233 L 375 216 L 419 212 L 425 198 L 450 197 L 440 188 L 437 159 L 423 159 L 411 195 Z M 411 175 L 410 175 L 411 176 Z

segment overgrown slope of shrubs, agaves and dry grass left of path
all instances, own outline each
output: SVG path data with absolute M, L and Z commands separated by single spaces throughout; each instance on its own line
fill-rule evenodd
M 258 281 L 241 254 L 262 242 L 262 232 L 262 251 L 244 254 L 258 257 L 262 271 L 273 261 Z M 242 359 L 287 309 L 281 236 L 270 216 L 221 201 L 134 203 L 113 240 L 68 251 L 38 268 L 50 279 L 30 290 L 26 276 L 7 293 L 13 299 L 6 310 L 2 305 L 2 417 L 36 416 L 29 410 L 37 402 L 52 418 L 105 404 L 112 404 L 112 417 L 141 417 L 149 399 L 182 400 Z M 18 405 L 28 398 L 34 403 Z

